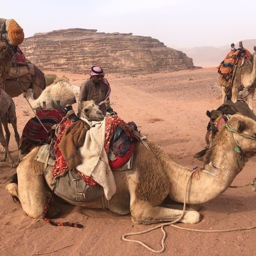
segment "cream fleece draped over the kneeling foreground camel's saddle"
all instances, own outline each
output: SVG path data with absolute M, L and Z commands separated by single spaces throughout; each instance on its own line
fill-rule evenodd
M 91 127 L 85 137 L 85 143 L 79 148 L 82 156 L 82 163 L 76 169 L 83 174 L 90 176 L 99 183 L 103 189 L 107 200 L 116 192 L 114 175 L 108 164 L 108 156 L 104 149 L 105 142 L 105 118 L 101 122 L 96 122 Z

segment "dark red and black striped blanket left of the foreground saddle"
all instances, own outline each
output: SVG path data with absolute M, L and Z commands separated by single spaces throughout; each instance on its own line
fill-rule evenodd
M 37 116 L 40 118 L 42 124 L 47 129 L 51 130 L 52 126 L 59 123 L 66 115 L 67 111 L 62 107 L 49 110 L 42 108 L 37 111 Z M 30 144 L 39 146 L 47 143 L 47 131 L 41 125 L 37 117 L 30 118 L 22 131 L 22 143 L 29 142 Z

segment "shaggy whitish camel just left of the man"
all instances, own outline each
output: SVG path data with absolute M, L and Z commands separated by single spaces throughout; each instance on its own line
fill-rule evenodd
M 27 89 L 24 95 L 34 110 L 42 108 L 43 101 L 46 102 L 46 107 L 52 110 L 57 106 L 57 101 L 60 101 L 59 105 L 62 107 L 77 103 L 79 90 L 78 86 L 71 85 L 68 79 L 63 78 L 62 80 L 55 79 L 55 82 L 47 86 L 37 99 L 34 99 L 33 89 Z

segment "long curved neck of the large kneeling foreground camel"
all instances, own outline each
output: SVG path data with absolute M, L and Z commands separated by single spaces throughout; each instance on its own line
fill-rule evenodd
M 223 136 L 229 134 L 225 133 Z M 191 177 L 186 200 L 188 204 L 201 204 L 215 199 L 230 186 L 244 167 L 247 159 L 237 155 L 239 153 L 234 151 L 233 141 L 226 139 L 224 145 L 221 141 L 211 152 L 208 163 L 199 169 L 199 179 Z M 241 161 L 240 157 L 246 160 Z M 188 178 L 193 169 L 179 166 L 172 161 L 167 162 L 166 167 L 171 184 L 169 197 L 174 201 L 183 202 Z

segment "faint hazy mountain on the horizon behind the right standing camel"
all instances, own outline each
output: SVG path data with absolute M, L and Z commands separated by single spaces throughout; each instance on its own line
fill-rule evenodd
M 243 46 L 252 54 L 253 47 L 256 45 L 256 39 L 242 40 Z M 231 44 L 232 42 L 230 42 Z M 235 48 L 238 48 L 239 42 L 234 42 Z M 201 67 L 215 67 L 225 58 L 230 51 L 230 45 L 223 45 L 221 47 L 193 47 L 193 48 L 177 48 L 186 53 L 187 56 L 193 59 L 195 66 Z

